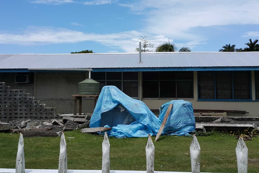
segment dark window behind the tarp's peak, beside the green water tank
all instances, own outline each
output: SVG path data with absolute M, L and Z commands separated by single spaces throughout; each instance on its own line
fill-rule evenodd
M 100 82 L 100 88 L 114 85 L 130 97 L 138 97 L 138 72 L 92 72 L 91 77 Z

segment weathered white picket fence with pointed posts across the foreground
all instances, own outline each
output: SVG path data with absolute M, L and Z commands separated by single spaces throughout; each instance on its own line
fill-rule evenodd
M 66 138 L 62 132 L 59 151 L 59 167 L 56 169 L 25 169 L 23 135 L 20 133 L 15 169 L 0 168 L 0 173 L 180 173 L 170 171 L 154 171 L 155 147 L 151 136 L 146 144 L 146 171 L 111 171 L 110 170 L 110 143 L 105 132 L 102 142 L 102 170 L 68 170 Z M 190 145 L 190 159 L 192 173 L 200 173 L 200 145 L 197 137 L 193 135 Z M 239 138 L 236 145 L 236 159 L 238 173 L 247 173 L 248 149 L 243 139 Z

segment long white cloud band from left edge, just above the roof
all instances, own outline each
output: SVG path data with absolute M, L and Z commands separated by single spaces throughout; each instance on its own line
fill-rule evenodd
M 134 30 L 119 33 L 95 34 L 64 28 L 31 26 L 18 34 L 0 31 L 0 44 L 46 45 L 94 41 L 105 46 L 122 48 L 126 52 L 134 52 L 138 42 L 132 38 L 137 38 L 141 34 L 142 33 Z

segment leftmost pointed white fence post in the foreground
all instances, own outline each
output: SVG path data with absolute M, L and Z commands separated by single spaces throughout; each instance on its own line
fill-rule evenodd
M 25 173 L 25 159 L 24 159 L 24 146 L 23 146 L 23 134 L 22 133 L 20 133 L 20 138 L 19 138 L 19 142 L 18 142 L 15 173 Z

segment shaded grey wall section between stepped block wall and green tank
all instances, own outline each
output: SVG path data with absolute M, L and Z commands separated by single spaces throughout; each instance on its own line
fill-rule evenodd
M 78 93 L 78 82 L 84 80 L 88 72 L 39 72 L 35 76 L 36 100 L 41 100 L 46 107 L 55 107 L 56 113 L 67 114 L 73 113 L 72 95 Z M 93 110 L 93 99 L 83 99 L 82 112 L 92 113 Z

